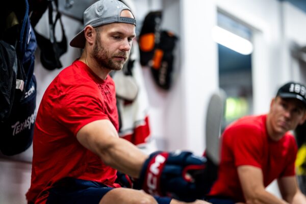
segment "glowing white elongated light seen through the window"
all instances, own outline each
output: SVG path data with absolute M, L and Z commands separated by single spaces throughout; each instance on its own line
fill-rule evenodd
M 250 41 L 218 26 L 213 28 L 212 35 L 215 42 L 242 55 L 249 55 L 253 52 L 253 45 Z

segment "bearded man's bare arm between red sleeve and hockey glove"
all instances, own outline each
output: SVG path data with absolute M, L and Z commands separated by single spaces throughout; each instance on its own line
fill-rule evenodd
M 131 142 L 119 138 L 109 120 L 96 120 L 84 125 L 77 139 L 105 164 L 133 177 L 139 176 L 148 157 Z

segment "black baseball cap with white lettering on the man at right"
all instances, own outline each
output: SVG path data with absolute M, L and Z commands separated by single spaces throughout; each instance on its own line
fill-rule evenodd
M 278 89 L 276 96 L 299 99 L 306 107 L 306 88 L 300 83 L 288 82 Z

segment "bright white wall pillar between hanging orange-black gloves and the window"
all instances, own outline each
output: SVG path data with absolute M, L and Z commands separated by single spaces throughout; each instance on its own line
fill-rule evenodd
M 212 1 L 181 1 L 181 86 L 184 111 L 181 132 L 185 147 L 197 154 L 205 148 L 205 120 L 208 100 L 218 89 L 217 46 L 211 30 L 216 24 Z M 174 114 L 175 110 L 171 114 Z M 175 116 L 173 116 L 175 117 Z M 173 127 L 172 127 L 173 128 Z M 176 135 L 172 135 L 172 140 Z

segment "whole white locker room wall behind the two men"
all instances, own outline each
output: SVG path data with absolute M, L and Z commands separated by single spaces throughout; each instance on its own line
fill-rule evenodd
M 306 15 L 288 3 L 276 0 L 134 0 L 141 20 L 149 10 L 163 9 L 162 27 L 179 36 L 175 49 L 173 87 L 160 90 L 152 81 L 148 67 L 143 68 L 149 96 L 152 137 L 164 150 L 188 149 L 201 154 L 205 148 L 205 113 L 210 94 L 218 88 L 217 47 L 211 38 L 217 10 L 230 14 L 249 25 L 254 32 L 252 55 L 254 113 L 266 112 L 276 87 L 287 81 L 305 83 L 305 70 L 291 59 L 288 44 L 306 43 Z M 63 16 L 67 39 L 79 30 L 80 23 Z M 284 24 L 282 23 L 284 21 Z M 38 30 L 47 35 L 47 20 Z M 57 29 L 59 31 L 59 29 Z M 283 32 L 282 32 L 283 31 Z M 39 61 L 35 73 L 38 83 L 37 104 L 50 81 L 60 69 L 48 71 Z M 79 55 L 70 48 L 61 62 L 68 66 Z M 32 149 L 15 156 L 31 161 Z M 0 203 L 25 203 L 24 193 L 30 186 L 30 163 L 0 160 Z M 11 178 L 11 179 L 10 179 Z M 15 179 L 13 179 L 15 178 Z M 9 182 L 13 181 L 13 182 Z M 277 189 L 271 192 L 279 195 Z

